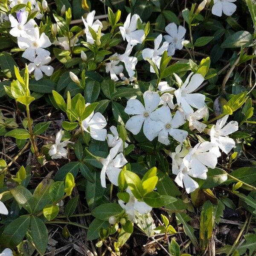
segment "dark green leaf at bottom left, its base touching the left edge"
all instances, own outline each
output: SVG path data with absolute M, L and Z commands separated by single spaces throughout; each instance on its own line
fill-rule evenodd
M 0 237 L 1 245 L 8 248 L 17 246 L 26 235 L 30 220 L 30 215 L 23 215 L 8 224 Z

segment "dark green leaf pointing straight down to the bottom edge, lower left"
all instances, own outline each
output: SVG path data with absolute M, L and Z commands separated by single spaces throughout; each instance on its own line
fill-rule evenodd
M 31 216 L 31 237 L 35 248 L 44 255 L 48 243 L 48 230 L 44 222 L 34 215 Z

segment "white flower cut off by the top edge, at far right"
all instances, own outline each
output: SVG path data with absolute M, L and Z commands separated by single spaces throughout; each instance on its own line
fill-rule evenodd
M 236 12 L 236 5 L 232 2 L 236 2 L 236 0 L 213 0 L 212 14 L 219 17 L 222 12 L 227 16 L 233 15 Z

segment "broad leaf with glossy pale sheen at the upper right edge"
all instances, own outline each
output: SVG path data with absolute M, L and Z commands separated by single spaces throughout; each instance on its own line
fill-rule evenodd
M 239 31 L 227 37 L 221 48 L 248 47 L 253 44 L 253 37 L 247 31 Z

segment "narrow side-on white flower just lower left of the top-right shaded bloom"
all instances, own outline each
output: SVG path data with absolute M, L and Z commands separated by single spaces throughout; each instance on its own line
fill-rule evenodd
M 142 50 L 143 59 L 150 58 L 158 68 L 160 68 L 161 56 L 164 51 L 167 50 L 169 44 L 167 42 L 163 42 L 163 45 L 160 47 L 163 36 L 160 34 L 154 40 L 154 49 L 145 48 Z M 150 72 L 155 73 L 153 67 L 150 65 Z

